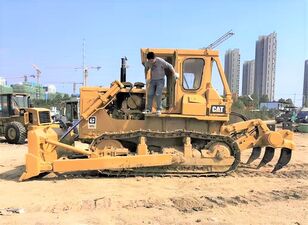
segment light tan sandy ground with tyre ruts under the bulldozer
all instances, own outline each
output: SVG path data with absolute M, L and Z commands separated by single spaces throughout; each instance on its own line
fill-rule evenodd
M 18 182 L 27 145 L 0 143 L 0 224 L 308 224 L 308 134 L 296 134 L 291 162 L 279 157 L 227 177 L 100 178 Z M 242 155 L 247 160 L 250 151 Z M 3 212 L 3 211 L 2 211 Z

